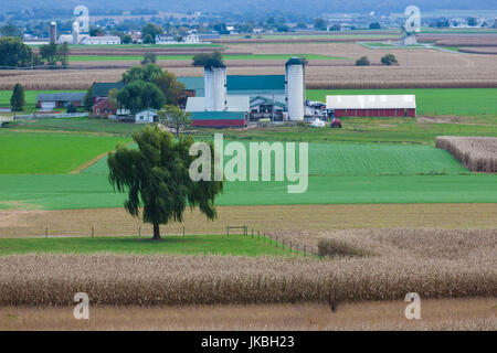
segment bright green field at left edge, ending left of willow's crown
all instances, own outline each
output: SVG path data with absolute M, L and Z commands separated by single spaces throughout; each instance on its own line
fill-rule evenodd
M 120 137 L 0 130 L 0 174 L 67 173 L 113 150 Z

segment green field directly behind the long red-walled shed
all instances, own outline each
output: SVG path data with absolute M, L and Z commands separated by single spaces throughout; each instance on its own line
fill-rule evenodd
M 417 115 L 497 116 L 497 88 L 307 89 L 307 98 L 326 95 L 416 95 Z

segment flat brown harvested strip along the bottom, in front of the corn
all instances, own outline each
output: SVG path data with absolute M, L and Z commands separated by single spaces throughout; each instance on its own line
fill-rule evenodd
M 497 298 L 421 300 L 421 320 L 406 320 L 406 302 L 89 308 L 0 308 L 0 331 L 15 330 L 497 330 Z

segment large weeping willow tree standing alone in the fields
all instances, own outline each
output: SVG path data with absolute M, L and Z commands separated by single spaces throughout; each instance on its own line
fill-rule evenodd
M 213 181 L 213 168 L 212 181 L 190 179 L 189 168 L 195 159 L 189 154 L 193 138 L 175 140 L 158 127 L 146 127 L 135 132 L 133 139 L 138 149 L 118 146 L 109 153 L 108 179 L 115 192 L 127 193 L 125 210 L 154 225 L 154 240 L 160 239 L 161 224 L 183 221 L 187 205 L 198 207 L 208 220 L 216 217 L 214 199 L 222 192 L 223 183 Z

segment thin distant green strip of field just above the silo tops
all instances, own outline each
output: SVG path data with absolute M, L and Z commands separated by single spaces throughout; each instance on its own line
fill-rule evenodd
M 329 56 L 320 54 L 228 54 L 224 60 L 288 60 L 292 56 L 305 56 L 308 60 L 350 60 L 348 57 Z M 141 61 L 142 55 L 72 55 L 71 62 L 98 61 Z M 193 60 L 193 55 L 157 55 L 157 60 Z

